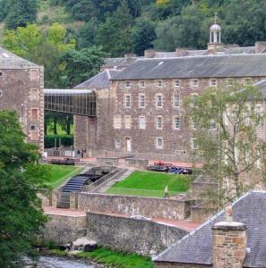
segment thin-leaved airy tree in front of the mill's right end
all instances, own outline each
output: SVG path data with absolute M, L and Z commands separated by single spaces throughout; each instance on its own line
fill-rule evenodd
M 208 88 L 185 101 L 186 121 L 196 129 L 195 155 L 203 161 L 203 176 L 219 183 L 220 203 L 263 181 L 266 143 L 258 135 L 264 120 L 262 94 L 253 86 L 239 88 Z

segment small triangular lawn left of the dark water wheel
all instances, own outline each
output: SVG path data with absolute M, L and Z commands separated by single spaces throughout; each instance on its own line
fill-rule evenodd
M 59 187 L 65 180 L 79 174 L 83 170 L 83 167 L 73 165 L 46 164 L 46 166 L 49 171 L 47 185 L 51 188 Z

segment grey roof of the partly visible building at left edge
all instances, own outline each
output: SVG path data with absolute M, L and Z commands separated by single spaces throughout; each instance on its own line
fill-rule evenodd
M 25 69 L 31 67 L 38 68 L 39 66 L 22 59 L 0 46 L 0 69 Z

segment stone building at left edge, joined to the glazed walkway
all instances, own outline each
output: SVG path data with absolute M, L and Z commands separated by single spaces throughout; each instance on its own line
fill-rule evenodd
M 43 68 L 0 47 L 0 110 L 15 110 L 27 141 L 43 151 Z

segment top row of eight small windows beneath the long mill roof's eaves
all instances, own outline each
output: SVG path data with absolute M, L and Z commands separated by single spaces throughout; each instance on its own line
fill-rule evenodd
M 234 85 L 234 79 L 227 79 L 227 86 L 233 86 Z M 124 88 L 131 88 L 132 86 L 132 81 L 125 81 L 124 82 Z M 139 81 L 139 87 L 140 88 L 145 88 L 146 82 L 144 80 Z M 250 85 L 252 83 L 251 78 L 245 78 L 244 79 L 244 85 Z M 163 80 L 156 80 L 155 85 L 157 88 L 162 88 L 164 86 L 164 81 Z M 210 79 L 209 80 L 209 85 L 210 87 L 217 87 L 218 85 L 218 80 L 217 79 Z M 175 88 L 179 88 L 182 86 L 182 80 L 174 80 L 173 81 L 173 86 Z M 196 88 L 199 86 L 199 80 L 198 79 L 192 79 L 190 80 L 190 86 L 193 88 Z

